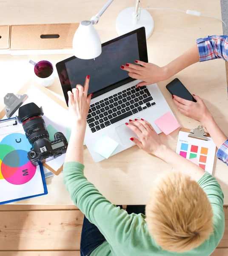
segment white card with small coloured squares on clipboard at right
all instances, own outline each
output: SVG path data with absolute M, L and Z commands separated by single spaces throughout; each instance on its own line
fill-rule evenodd
M 180 131 L 177 140 L 177 154 L 197 164 L 212 174 L 216 145 L 211 137 L 208 141 L 188 137 L 188 132 Z

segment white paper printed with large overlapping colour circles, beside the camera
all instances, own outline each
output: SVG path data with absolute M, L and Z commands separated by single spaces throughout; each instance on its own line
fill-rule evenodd
M 10 201 L 10 200 L 15 200 L 15 199 L 19 199 L 19 198 L 24 198 L 24 197 L 28 197 L 28 196 L 33 196 L 33 195 L 40 195 L 44 193 L 44 188 L 43 188 L 43 180 L 42 180 L 42 176 L 40 173 L 40 166 L 33 166 L 33 172 L 29 172 L 28 174 L 25 173 L 26 171 L 28 171 L 28 165 L 31 165 L 31 163 L 29 162 L 29 160 L 27 159 L 27 152 L 30 149 L 30 145 L 27 142 L 25 133 L 23 130 L 21 130 L 22 126 L 20 124 L 14 125 L 14 126 L 9 126 L 9 127 L 3 127 L 0 128 L 0 155 L 2 156 L 3 159 L 0 160 L 0 202 L 4 202 L 4 201 Z M 20 161 L 18 162 L 18 166 L 16 166 L 16 160 L 14 159 L 14 157 L 9 156 L 8 154 L 4 154 L 3 152 L 5 152 L 6 148 L 3 147 L 9 147 L 8 143 L 6 143 L 6 141 L 4 141 L 3 139 L 6 138 L 7 136 L 11 135 L 12 133 L 16 133 L 16 140 L 18 142 L 15 142 L 15 138 L 13 141 L 14 143 L 9 143 L 11 144 L 11 153 L 13 153 L 13 151 L 16 152 L 22 152 L 23 153 L 23 157 L 19 157 L 18 159 L 20 159 Z M 23 142 L 26 141 L 27 144 L 23 144 L 26 146 L 21 147 L 20 145 L 20 139 L 22 139 L 21 141 Z M 8 152 L 8 151 L 7 151 Z M 16 154 L 16 153 L 15 153 Z M 8 175 L 8 168 L 9 167 L 4 167 L 4 164 L 6 163 L 5 157 L 9 157 L 8 163 L 9 165 L 14 165 L 14 170 L 17 170 L 15 173 L 9 175 L 9 177 L 6 177 L 5 175 Z M 9 166 L 7 165 L 7 166 Z M 27 166 L 27 167 L 26 167 Z M 28 169 L 26 169 L 28 168 Z M 5 171 L 4 171 L 5 170 Z M 10 169 L 11 170 L 11 169 Z M 17 175 L 17 173 L 19 173 L 20 171 L 20 176 Z M 31 173 L 33 175 L 31 175 Z M 23 175 L 24 174 L 24 175 Z M 30 176 L 29 176 L 30 175 Z M 23 184 L 13 184 L 11 183 L 12 180 L 14 180 L 15 182 L 19 182 L 20 179 L 18 179 L 18 177 L 23 177 L 28 179 L 28 181 L 23 180 Z

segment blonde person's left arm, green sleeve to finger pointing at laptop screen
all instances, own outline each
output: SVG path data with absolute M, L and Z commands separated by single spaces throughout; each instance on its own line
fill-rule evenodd
M 63 166 L 63 182 L 74 204 L 94 223 L 109 244 L 123 244 L 135 226 L 134 215 L 111 204 L 84 176 L 83 140 L 85 136 L 86 117 L 88 115 L 91 95 L 87 98 L 89 76 L 84 88 L 77 84 L 68 92 L 69 111 L 74 124 Z

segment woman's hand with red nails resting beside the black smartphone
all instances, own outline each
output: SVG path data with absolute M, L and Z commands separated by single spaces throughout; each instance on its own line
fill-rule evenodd
M 192 102 L 173 95 L 174 103 L 180 113 L 201 122 L 203 125 L 205 121 L 212 118 L 212 115 L 199 96 L 193 95 L 193 97 L 197 102 Z

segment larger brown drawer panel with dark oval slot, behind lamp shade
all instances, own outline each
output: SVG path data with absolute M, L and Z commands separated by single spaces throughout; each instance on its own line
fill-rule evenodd
M 79 23 L 13 25 L 11 26 L 11 50 L 69 49 Z

